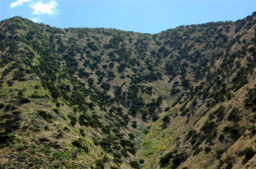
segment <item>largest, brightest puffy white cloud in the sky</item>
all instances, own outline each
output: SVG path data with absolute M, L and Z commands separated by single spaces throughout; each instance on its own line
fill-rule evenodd
M 56 15 L 58 13 L 57 6 L 58 6 L 58 3 L 56 3 L 56 1 L 51 1 L 50 3 L 42 3 L 41 1 L 39 1 L 38 3 L 33 4 L 32 8 L 34 11 L 32 14 Z

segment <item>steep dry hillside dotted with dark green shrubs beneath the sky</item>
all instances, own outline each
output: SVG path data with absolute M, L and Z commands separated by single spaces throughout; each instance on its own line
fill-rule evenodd
M 158 34 L 0 22 L 0 168 L 256 168 L 256 13 Z

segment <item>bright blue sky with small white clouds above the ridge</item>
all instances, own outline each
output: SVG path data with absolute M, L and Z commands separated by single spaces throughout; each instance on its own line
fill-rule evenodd
M 181 25 L 238 20 L 255 0 L 0 0 L 0 20 L 20 16 L 50 26 L 159 33 Z

